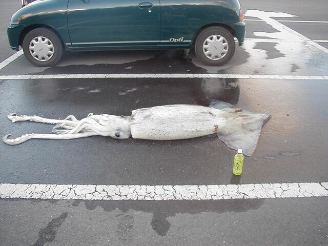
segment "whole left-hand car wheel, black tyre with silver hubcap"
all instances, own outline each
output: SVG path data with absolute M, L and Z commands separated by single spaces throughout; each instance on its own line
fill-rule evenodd
M 55 32 L 47 28 L 36 28 L 24 37 L 23 51 L 33 65 L 51 67 L 63 56 L 64 48 Z

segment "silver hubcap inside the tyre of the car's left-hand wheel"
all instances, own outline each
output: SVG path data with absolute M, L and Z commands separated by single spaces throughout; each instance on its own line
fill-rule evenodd
M 30 42 L 30 53 L 38 61 L 49 60 L 53 56 L 53 44 L 46 37 L 35 37 Z

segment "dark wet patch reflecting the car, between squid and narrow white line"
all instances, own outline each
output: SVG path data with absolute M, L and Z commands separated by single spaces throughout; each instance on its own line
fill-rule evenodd
M 208 106 L 212 99 L 237 104 L 240 95 L 238 79 L 233 78 L 181 78 L 179 83 L 175 79 L 163 78 L 125 78 L 119 79 L 120 83 L 116 81 L 93 79 L 90 83 L 89 79 L 71 79 L 67 83 L 63 79 L 33 80 L 19 86 L 17 98 L 24 104 L 26 101 L 38 104 L 37 102 L 44 100 L 60 105 L 74 103 L 85 114 L 98 112 L 129 115 L 134 109 L 160 105 Z M 152 96 L 145 96 L 150 93 Z M 24 112 L 26 113 L 28 112 Z M 34 115 L 36 112 L 30 113 Z

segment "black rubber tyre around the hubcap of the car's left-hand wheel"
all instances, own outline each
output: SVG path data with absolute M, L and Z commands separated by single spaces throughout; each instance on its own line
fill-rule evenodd
M 30 53 L 30 49 L 29 49 L 30 43 L 36 37 L 48 38 L 50 40 L 50 42 L 52 43 L 53 55 L 48 60 L 45 60 L 44 58 L 42 58 L 43 60 L 37 60 Z M 63 52 L 64 52 L 63 42 L 61 42 L 60 37 L 55 32 L 53 32 L 52 30 L 50 30 L 48 28 L 36 28 L 36 29 L 33 29 L 32 31 L 30 31 L 24 37 L 22 47 L 23 47 L 25 57 L 30 61 L 31 64 L 33 64 L 37 67 L 54 66 L 55 64 L 58 63 L 61 56 L 63 56 Z

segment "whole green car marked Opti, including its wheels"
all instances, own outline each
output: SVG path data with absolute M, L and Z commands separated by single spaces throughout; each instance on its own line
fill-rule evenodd
M 243 43 L 238 0 L 38 0 L 8 27 L 35 66 L 55 65 L 69 51 L 195 49 L 202 63 L 221 66 Z

